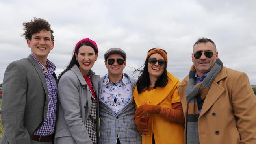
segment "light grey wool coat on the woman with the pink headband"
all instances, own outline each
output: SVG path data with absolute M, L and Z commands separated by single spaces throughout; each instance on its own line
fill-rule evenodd
M 95 92 L 98 94 L 100 76 L 95 75 L 92 70 L 89 71 L 89 75 Z M 59 114 L 54 144 L 92 144 L 85 128 L 85 122 L 91 109 L 91 94 L 78 66 L 74 65 L 59 79 L 58 100 Z M 98 134 L 98 103 L 96 127 Z

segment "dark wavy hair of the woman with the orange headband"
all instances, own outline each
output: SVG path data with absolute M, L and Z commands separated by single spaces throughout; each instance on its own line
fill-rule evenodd
M 156 48 L 152 48 L 152 49 L 148 50 L 148 52 L 150 52 L 151 50 L 154 50 L 154 49 L 156 49 Z M 161 49 L 161 50 L 163 50 L 163 49 Z M 167 52 L 165 50 L 163 50 L 163 51 L 165 52 L 165 54 L 167 54 Z M 146 57 L 145 63 L 140 68 L 138 68 L 134 71 L 134 73 L 139 72 L 139 78 L 136 83 L 137 90 L 138 90 L 139 94 L 141 92 L 144 92 L 145 90 L 147 90 L 147 88 L 150 86 L 150 79 L 149 79 L 149 73 L 148 73 L 148 58 L 149 57 Z M 168 79 L 170 79 L 170 78 L 168 78 L 168 76 L 167 76 L 166 69 L 167 69 L 167 65 L 165 65 L 165 67 L 164 67 L 163 74 L 156 80 L 154 88 L 165 87 L 167 85 Z

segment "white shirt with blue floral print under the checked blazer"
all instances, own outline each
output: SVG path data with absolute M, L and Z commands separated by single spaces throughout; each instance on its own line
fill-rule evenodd
M 106 74 L 102 88 L 100 90 L 100 101 L 108 105 L 108 107 L 118 114 L 132 99 L 132 85 L 129 78 L 122 77 L 122 81 L 113 83 L 109 81 Z

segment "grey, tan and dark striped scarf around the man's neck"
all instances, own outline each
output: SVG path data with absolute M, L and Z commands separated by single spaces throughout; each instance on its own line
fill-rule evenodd
M 187 144 L 199 144 L 198 136 L 198 108 L 202 109 L 204 99 L 210 89 L 211 82 L 221 71 L 223 63 L 217 59 L 206 78 L 195 85 L 195 66 L 192 65 L 189 71 L 189 81 L 186 87 L 186 99 L 188 102 L 187 108 Z

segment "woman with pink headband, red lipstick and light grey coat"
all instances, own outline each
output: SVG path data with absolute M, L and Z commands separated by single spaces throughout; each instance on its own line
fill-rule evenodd
M 89 38 L 82 39 L 76 44 L 69 65 L 59 75 L 54 144 L 97 143 L 100 76 L 91 70 L 97 57 L 97 44 Z

